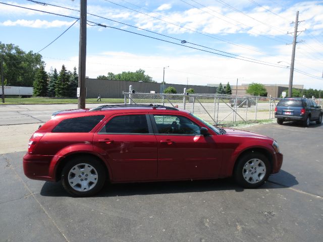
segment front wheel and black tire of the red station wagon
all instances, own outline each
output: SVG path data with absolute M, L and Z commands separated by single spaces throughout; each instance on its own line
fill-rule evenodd
M 259 163 L 257 164 L 257 162 Z M 267 157 L 252 151 L 244 154 L 237 160 L 234 178 L 244 188 L 257 188 L 268 179 L 270 173 L 271 163 Z

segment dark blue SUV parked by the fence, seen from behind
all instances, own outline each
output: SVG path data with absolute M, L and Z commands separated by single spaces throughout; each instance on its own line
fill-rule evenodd
M 275 108 L 277 123 L 284 121 L 299 121 L 308 127 L 311 121 L 322 123 L 322 109 L 314 100 L 300 97 L 286 97 L 281 99 Z

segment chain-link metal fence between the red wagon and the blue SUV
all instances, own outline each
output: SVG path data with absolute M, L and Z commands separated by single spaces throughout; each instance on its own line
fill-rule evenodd
M 184 89 L 184 93 L 186 90 Z M 125 104 L 159 104 L 188 110 L 213 125 L 275 118 L 280 98 L 217 94 L 124 92 Z

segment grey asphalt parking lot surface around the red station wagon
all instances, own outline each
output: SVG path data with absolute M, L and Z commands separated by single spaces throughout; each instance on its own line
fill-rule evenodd
M 228 178 L 107 185 L 72 198 L 25 177 L 24 151 L 0 154 L 0 241 L 322 241 L 323 125 L 244 129 L 274 137 L 284 154 L 280 173 L 255 190 Z

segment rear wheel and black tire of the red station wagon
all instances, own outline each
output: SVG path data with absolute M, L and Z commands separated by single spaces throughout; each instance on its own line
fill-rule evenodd
M 75 173 L 72 169 L 76 169 Z M 80 178 L 78 178 L 75 174 L 81 171 L 84 172 L 80 173 Z M 74 183 L 75 186 L 72 187 L 70 183 L 74 182 L 72 181 L 74 178 L 77 180 Z M 62 172 L 63 187 L 74 197 L 93 196 L 102 189 L 105 179 L 106 172 L 101 162 L 88 155 L 72 158 L 64 166 Z

